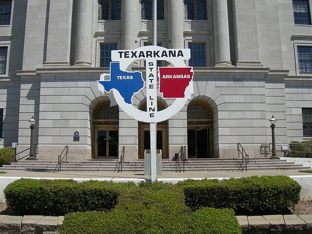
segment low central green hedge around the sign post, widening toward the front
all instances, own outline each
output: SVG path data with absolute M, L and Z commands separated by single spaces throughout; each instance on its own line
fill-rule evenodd
M 65 215 L 59 234 L 241 234 L 231 210 L 191 212 L 172 184 L 140 183 L 111 212 Z

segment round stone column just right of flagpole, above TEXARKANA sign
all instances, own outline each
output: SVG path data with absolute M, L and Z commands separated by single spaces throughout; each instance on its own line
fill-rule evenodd
M 169 4 L 169 40 L 171 40 L 169 47 L 173 49 L 184 48 L 184 2 L 183 0 L 169 0 Z

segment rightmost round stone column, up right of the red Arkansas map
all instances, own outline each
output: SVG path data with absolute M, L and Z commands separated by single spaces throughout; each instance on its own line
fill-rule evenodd
M 215 66 L 232 66 L 227 0 L 213 0 Z

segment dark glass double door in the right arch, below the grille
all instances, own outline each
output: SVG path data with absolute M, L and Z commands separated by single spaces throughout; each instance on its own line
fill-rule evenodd
M 211 129 L 189 128 L 187 148 L 188 158 L 211 158 Z

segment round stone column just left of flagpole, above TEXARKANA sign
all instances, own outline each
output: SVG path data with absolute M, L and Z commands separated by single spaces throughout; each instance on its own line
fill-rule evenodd
M 135 48 L 137 39 L 137 0 L 123 1 L 123 49 L 131 50 Z

